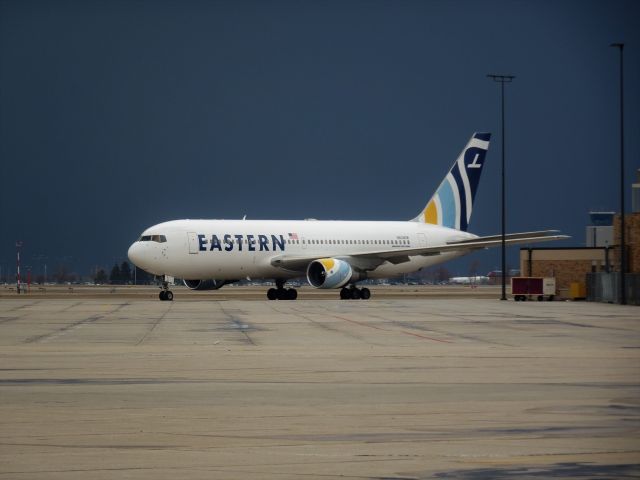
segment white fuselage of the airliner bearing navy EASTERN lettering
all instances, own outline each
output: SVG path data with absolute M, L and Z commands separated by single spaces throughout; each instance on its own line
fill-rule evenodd
M 287 257 L 340 258 L 352 254 L 443 245 L 475 235 L 419 222 L 319 220 L 175 220 L 148 228 L 129 258 L 155 274 L 184 279 L 238 280 L 300 277 L 271 264 Z M 417 271 L 465 252 L 410 256 L 409 261 L 384 262 L 369 278 Z

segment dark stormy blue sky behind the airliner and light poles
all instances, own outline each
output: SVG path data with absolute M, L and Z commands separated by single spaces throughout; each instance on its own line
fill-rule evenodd
M 618 209 L 620 41 L 630 184 L 637 1 L 0 1 L 0 264 L 21 239 L 34 270 L 87 274 L 175 218 L 409 219 L 474 131 L 470 230 L 499 233 L 488 73 L 517 77 L 508 230 L 583 245 L 587 212 Z

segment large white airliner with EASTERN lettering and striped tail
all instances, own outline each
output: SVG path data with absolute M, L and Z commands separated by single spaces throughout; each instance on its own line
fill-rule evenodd
M 173 300 L 172 277 L 192 290 L 217 290 L 242 278 L 273 279 L 269 300 L 295 300 L 288 280 L 368 299 L 356 283 L 390 278 L 501 244 L 501 235 L 467 231 L 489 133 L 474 133 L 426 206 L 409 221 L 174 220 L 146 229 L 128 251 L 161 277 L 160 300 Z M 513 233 L 507 245 L 569 238 L 557 230 Z

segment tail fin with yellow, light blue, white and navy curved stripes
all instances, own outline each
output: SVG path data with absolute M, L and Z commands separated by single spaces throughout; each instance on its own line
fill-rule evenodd
M 474 133 L 424 210 L 413 220 L 466 231 L 490 133 Z

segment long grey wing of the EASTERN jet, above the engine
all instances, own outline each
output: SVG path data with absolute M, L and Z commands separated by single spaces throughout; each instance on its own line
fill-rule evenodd
M 564 240 L 570 238 L 568 235 L 558 235 L 557 230 L 544 230 L 538 232 L 510 233 L 505 235 L 506 245 L 518 245 L 523 243 L 549 242 L 552 240 Z M 409 261 L 409 257 L 418 255 L 440 255 L 447 252 L 460 252 L 482 250 L 484 248 L 495 247 L 502 243 L 501 235 L 490 235 L 486 237 L 476 237 L 465 240 L 455 240 L 442 245 L 430 247 L 411 247 L 391 250 L 377 250 L 373 252 L 352 253 L 346 255 L 334 255 L 348 261 L 352 266 L 361 270 L 373 270 L 384 262 L 399 264 Z M 303 272 L 309 263 L 317 260 L 318 255 L 279 255 L 271 259 L 271 265 L 281 267 L 285 270 Z

